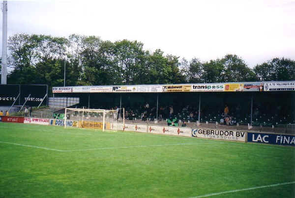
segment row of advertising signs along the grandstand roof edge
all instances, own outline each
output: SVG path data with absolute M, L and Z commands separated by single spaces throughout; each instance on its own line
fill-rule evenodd
M 168 93 L 168 92 L 256 92 L 295 91 L 295 81 L 203 83 L 173 85 L 53 87 L 53 93 Z

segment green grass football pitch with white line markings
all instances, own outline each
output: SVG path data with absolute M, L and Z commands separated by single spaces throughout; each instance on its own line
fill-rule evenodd
M 0 197 L 295 198 L 295 148 L 0 123 Z

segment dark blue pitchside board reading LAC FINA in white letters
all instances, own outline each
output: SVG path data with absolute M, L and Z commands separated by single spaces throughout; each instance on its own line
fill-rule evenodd
M 247 141 L 272 145 L 295 146 L 295 135 L 248 132 Z

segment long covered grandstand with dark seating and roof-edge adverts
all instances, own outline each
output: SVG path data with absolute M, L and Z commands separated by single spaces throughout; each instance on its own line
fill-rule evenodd
M 287 124 L 295 124 L 294 84 L 284 81 L 265 82 L 263 86 L 262 82 L 78 86 L 54 87 L 53 93 L 80 98 L 80 107 L 125 107 L 126 123 L 166 125 L 174 120 L 185 121 L 191 127 L 278 132 L 287 129 Z M 230 109 L 229 122 L 224 117 L 225 104 Z

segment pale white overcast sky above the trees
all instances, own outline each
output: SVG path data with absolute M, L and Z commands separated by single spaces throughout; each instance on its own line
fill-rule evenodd
M 7 4 L 8 36 L 75 33 L 112 42 L 137 40 L 144 49 L 161 49 L 187 60 L 208 61 L 232 53 L 251 68 L 274 57 L 295 60 L 295 0 L 9 0 Z M 0 21 L 2 29 L 2 13 Z

